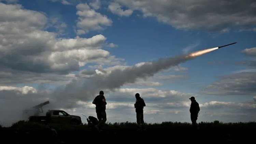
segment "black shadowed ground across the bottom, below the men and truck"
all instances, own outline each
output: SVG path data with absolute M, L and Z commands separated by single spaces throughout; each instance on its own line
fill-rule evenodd
M 256 123 L 200 123 L 195 130 L 188 123 L 150 124 L 138 131 L 132 123 L 106 125 L 98 132 L 86 125 L 12 126 L 0 128 L 1 144 L 137 144 L 137 143 L 254 143 Z M 34 127 L 34 128 L 33 128 Z M 36 127 L 36 128 L 35 128 Z M 63 129 L 65 128 L 65 129 Z

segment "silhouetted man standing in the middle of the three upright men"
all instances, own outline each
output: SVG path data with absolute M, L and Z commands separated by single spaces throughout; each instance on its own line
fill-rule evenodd
M 137 118 L 137 124 L 139 126 L 139 129 L 144 129 L 143 124 L 143 108 L 146 106 L 144 100 L 140 97 L 139 93 L 135 94 L 136 102 L 134 104 L 135 112 L 136 112 L 136 118 Z

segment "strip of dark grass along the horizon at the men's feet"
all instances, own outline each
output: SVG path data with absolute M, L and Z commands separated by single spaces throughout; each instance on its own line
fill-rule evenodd
M 162 123 L 145 123 L 145 127 L 147 128 L 170 128 L 170 129 L 186 129 L 191 128 L 191 123 L 181 123 L 181 122 L 171 122 L 171 121 L 165 121 Z M 200 122 L 198 123 L 198 126 L 201 129 L 232 129 L 232 128 L 250 128 L 250 127 L 256 127 L 256 122 L 248 122 L 248 123 L 223 123 L 220 121 L 213 121 L 213 122 Z M 0 128 L 2 125 L 0 124 Z M 46 128 L 54 128 L 54 129 L 88 129 L 89 126 L 87 124 L 82 125 L 70 125 L 70 124 L 42 124 L 42 123 L 34 123 L 30 121 L 20 120 L 16 123 L 13 123 L 10 128 L 14 129 L 46 129 Z M 110 123 L 107 122 L 104 125 L 105 129 L 136 129 L 137 124 L 131 123 L 129 121 L 126 122 L 119 122 L 119 123 Z

